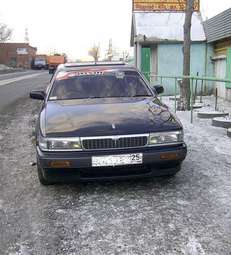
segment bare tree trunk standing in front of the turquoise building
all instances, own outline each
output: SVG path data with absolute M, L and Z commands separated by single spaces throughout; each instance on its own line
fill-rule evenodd
M 194 0 L 186 0 L 185 22 L 184 22 L 184 45 L 183 45 L 183 75 L 190 75 L 190 49 L 191 49 L 191 21 L 194 11 Z M 181 86 L 180 110 L 190 110 L 190 79 L 183 79 Z

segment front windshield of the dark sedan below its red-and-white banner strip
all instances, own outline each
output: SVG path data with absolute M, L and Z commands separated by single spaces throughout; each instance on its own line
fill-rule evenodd
M 55 80 L 49 100 L 142 97 L 152 93 L 138 74 L 68 75 Z

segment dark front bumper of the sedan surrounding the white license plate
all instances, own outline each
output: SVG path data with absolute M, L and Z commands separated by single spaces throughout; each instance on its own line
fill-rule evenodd
M 142 153 L 143 163 L 115 167 L 92 167 L 92 156 Z M 183 143 L 175 146 L 144 147 L 123 150 L 43 152 L 37 146 L 38 164 L 44 177 L 53 182 L 128 179 L 172 175 L 180 170 L 187 147 Z M 173 157 L 174 156 L 174 157 Z M 51 167 L 52 162 L 69 162 L 68 167 Z

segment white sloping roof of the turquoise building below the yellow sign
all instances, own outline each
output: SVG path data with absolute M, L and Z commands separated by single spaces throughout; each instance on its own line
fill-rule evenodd
M 182 12 L 136 12 L 133 13 L 131 44 L 136 36 L 147 41 L 183 41 L 185 13 Z M 192 41 L 205 41 L 200 13 L 194 12 L 191 28 Z

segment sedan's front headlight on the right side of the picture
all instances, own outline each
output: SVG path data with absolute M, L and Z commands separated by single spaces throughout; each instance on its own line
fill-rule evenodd
M 168 144 L 168 143 L 178 143 L 184 141 L 184 133 L 182 130 L 174 132 L 160 132 L 151 133 L 149 135 L 148 144 Z

